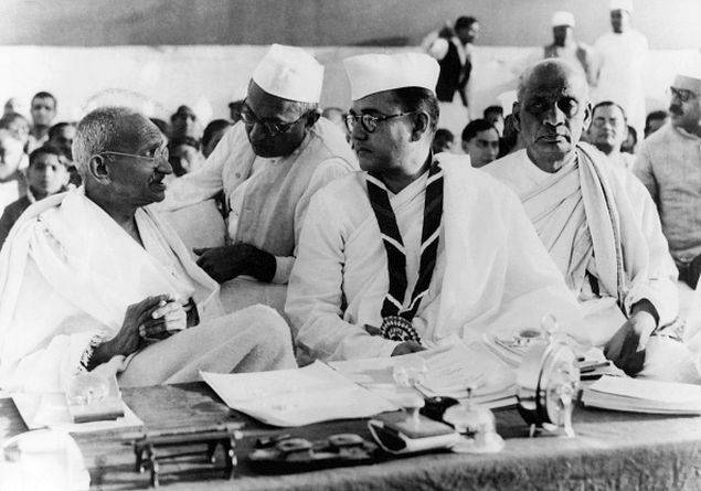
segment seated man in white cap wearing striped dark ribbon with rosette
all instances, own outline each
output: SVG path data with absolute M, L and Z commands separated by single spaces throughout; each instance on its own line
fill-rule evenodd
M 431 152 L 438 64 L 425 54 L 343 61 L 361 172 L 311 200 L 286 313 L 323 360 L 390 356 L 485 331 L 574 325 L 578 310 L 517 196 L 467 156 Z

